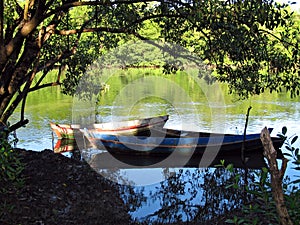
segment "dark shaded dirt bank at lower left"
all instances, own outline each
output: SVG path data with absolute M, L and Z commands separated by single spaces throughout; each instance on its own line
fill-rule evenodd
M 17 151 L 25 185 L 0 191 L 0 224 L 131 224 L 115 184 L 87 163 L 50 150 Z

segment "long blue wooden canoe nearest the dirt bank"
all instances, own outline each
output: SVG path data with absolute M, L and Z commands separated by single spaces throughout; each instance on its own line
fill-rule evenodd
M 272 129 L 269 129 L 271 132 Z M 185 132 L 167 130 L 154 132 L 154 134 L 125 136 L 97 134 L 88 132 L 86 137 L 99 149 L 106 149 L 113 153 L 123 154 L 171 154 L 174 151 L 180 153 L 204 153 L 206 150 L 222 153 L 241 152 L 244 146 L 245 152 L 262 150 L 260 133 L 244 135 L 216 134 L 203 132 Z M 244 140 L 245 138 L 245 140 Z M 279 149 L 283 140 L 272 137 L 275 149 Z

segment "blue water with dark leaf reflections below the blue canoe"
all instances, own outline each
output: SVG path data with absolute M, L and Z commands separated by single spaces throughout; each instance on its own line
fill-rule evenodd
M 255 170 L 246 174 L 244 169 L 237 168 L 232 171 L 224 167 L 162 168 L 166 177 L 164 181 L 155 186 L 135 187 L 122 169 L 103 169 L 105 160 L 92 159 L 90 165 L 103 177 L 115 182 L 130 213 L 149 212 L 146 216 L 138 215 L 138 220 L 146 224 L 180 221 L 204 224 L 222 215 L 229 216 L 230 212 L 251 201 L 251 195 L 246 195 L 242 187 L 253 184 L 256 176 Z M 233 184 L 239 188 L 234 188 Z

